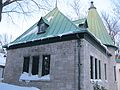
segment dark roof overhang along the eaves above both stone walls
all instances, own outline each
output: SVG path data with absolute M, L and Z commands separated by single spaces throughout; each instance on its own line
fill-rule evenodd
M 78 38 L 79 35 L 79 38 Z M 45 39 L 30 41 L 27 43 L 20 43 L 20 44 L 14 44 L 9 47 L 7 47 L 8 50 L 10 49 L 17 49 L 17 48 L 24 48 L 24 47 L 30 47 L 30 46 L 36 46 L 36 45 L 43 45 L 43 44 L 49 44 L 49 43 L 55 43 L 55 42 L 61 42 L 61 41 L 68 41 L 68 40 L 76 40 L 76 39 L 82 39 L 85 38 L 87 41 L 93 42 L 92 44 L 96 44 L 99 46 L 100 50 L 102 50 L 104 53 L 106 53 L 108 56 L 112 56 L 112 54 L 106 49 L 105 45 L 101 44 L 90 32 L 87 30 L 84 32 L 76 32 L 71 33 L 67 35 L 62 36 L 56 36 L 56 37 L 49 37 Z

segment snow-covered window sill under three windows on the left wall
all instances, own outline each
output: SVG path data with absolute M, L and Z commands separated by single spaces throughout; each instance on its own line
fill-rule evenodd
M 21 76 L 19 81 L 31 82 L 31 81 L 50 81 L 50 75 L 45 75 L 42 77 L 38 77 L 38 75 L 31 75 L 29 76 L 28 73 L 24 72 Z

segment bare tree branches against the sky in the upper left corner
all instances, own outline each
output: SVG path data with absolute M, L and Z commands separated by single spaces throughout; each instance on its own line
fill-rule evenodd
M 38 10 L 50 10 L 50 0 L 0 0 L 0 21 L 2 13 L 12 18 L 11 13 L 28 15 Z

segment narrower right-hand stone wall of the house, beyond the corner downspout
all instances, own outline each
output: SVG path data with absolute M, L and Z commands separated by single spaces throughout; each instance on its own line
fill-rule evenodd
M 82 40 L 81 45 L 81 59 L 84 75 L 82 75 L 84 87 L 82 90 L 93 90 L 93 81 L 98 81 L 98 83 L 104 86 L 107 90 L 117 90 L 117 82 L 114 79 L 114 53 L 112 52 L 112 57 L 107 56 L 107 54 L 99 51 L 100 47 L 96 45 L 91 45 L 88 41 Z M 84 57 L 83 57 L 84 56 Z M 101 61 L 101 79 L 90 79 L 90 56 Z M 94 62 L 95 63 L 95 62 Z M 105 80 L 105 68 L 106 63 L 107 80 Z M 97 66 L 99 67 L 99 65 Z M 95 67 L 94 67 L 95 68 Z M 99 69 L 97 68 L 98 72 Z M 95 74 L 95 72 L 94 72 Z M 98 73 L 99 75 L 99 73 Z M 94 76 L 95 77 L 95 76 Z

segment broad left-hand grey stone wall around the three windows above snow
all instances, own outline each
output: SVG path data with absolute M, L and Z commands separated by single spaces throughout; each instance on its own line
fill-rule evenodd
M 4 82 L 34 86 L 40 90 L 75 90 L 75 41 L 65 41 L 8 50 Z M 50 81 L 19 81 L 22 74 L 23 56 L 51 55 Z

